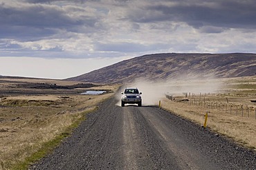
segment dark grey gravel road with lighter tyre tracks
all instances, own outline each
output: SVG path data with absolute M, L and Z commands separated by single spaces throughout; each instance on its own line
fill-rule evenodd
M 256 169 L 256 153 L 157 107 L 110 98 L 30 169 Z

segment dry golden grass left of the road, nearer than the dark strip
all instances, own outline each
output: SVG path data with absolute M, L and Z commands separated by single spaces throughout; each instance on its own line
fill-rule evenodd
M 117 88 L 118 86 L 111 87 L 112 92 Z M 92 111 L 98 103 L 112 95 L 113 93 L 1 97 L 0 169 L 12 169 L 23 162 L 39 151 L 44 143 L 62 134 L 86 112 Z

